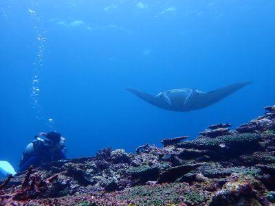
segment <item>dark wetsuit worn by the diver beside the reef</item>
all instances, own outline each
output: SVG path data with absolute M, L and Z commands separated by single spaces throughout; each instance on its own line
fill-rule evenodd
M 28 170 L 30 165 L 33 165 L 34 168 L 39 168 L 42 163 L 67 159 L 65 156 L 65 146 L 52 153 L 47 150 L 47 146 L 43 144 L 43 141 L 32 141 L 32 144 L 34 147 L 33 152 L 30 154 L 26 153 L 25 151 L 23 152 L 23 157 L 19 165 L 19 172 Z

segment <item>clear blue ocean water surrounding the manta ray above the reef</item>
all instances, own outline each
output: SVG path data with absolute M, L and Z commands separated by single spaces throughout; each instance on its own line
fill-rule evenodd
M 67 156 L 238 126 L 274 104 L 275 1 L 0 2 L 1 160 L 57 130 Z M 125 88 L 211 91 L 253 84 L 208 108 L 164 111 Z

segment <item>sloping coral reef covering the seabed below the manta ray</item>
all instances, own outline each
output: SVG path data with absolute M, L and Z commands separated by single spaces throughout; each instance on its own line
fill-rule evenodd
M 0 181 L 0 205 L 274 205 L 275 106 L 230 130 L 106 148 Z

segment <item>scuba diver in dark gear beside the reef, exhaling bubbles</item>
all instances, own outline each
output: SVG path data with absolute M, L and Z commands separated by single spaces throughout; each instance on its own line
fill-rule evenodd
M 21 157 L 19 172 L 28 170 L 30 165 L 38 168 L 42 163 L 65 161 L 65 138 L 56 132 L 40 133 L 36 140 L 26 146 Z

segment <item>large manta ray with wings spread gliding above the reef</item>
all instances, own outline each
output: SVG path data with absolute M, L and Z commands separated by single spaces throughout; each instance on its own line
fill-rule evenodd
M 199 91 L 198 89 L 171 89 L 158 95 L 150 95 L 133 88 L 127 88 L 126 90 L 159 108 L 168 111 L 188 112 L 215 104 L 248 84 L 251 84 L 251 82 L 230 84 L 209 92 Z

